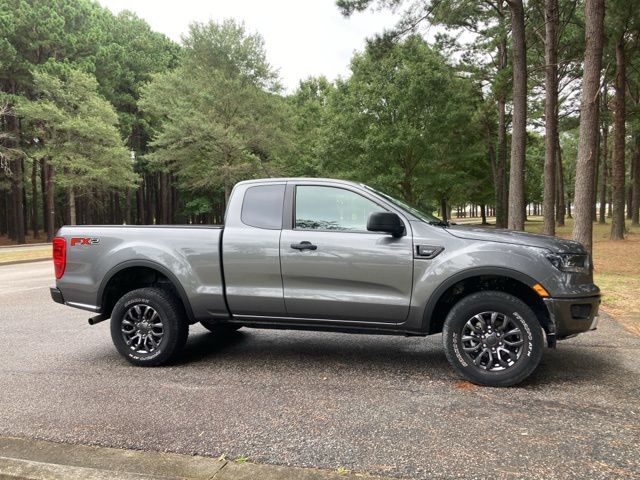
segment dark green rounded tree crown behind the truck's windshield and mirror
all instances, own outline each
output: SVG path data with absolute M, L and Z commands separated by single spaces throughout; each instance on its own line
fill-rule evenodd
M 428 205 L 467 191 L 468 168 L 488 168 L 473 83 L 420 37 L 372 43 L 351 68 L 331 98 L 326 169 Z

